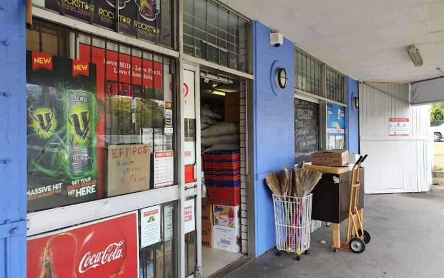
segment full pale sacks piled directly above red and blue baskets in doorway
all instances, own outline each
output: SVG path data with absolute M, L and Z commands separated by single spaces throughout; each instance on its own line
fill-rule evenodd
M 201 144 L 207 147 L 204 152 L 241 149 L 239 138 L 239 123 L 224 122 L 214 124 L 201 132 Z

